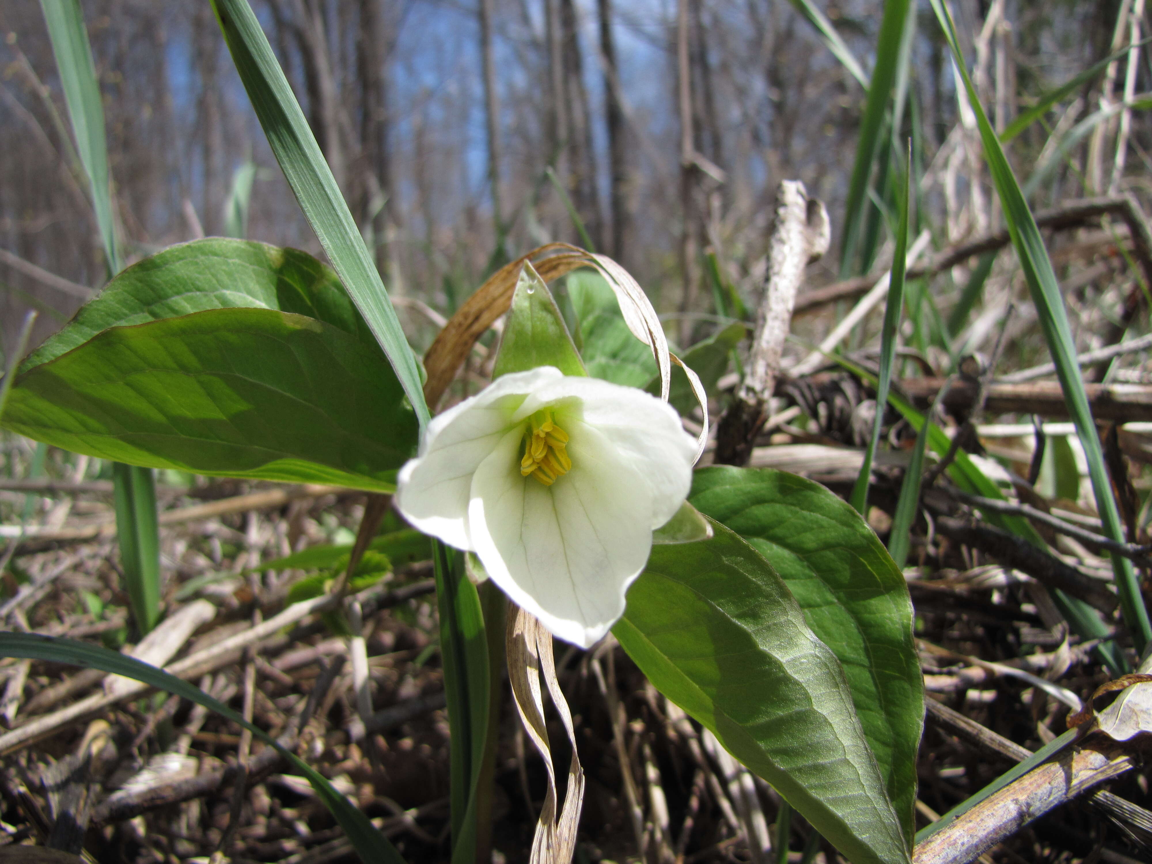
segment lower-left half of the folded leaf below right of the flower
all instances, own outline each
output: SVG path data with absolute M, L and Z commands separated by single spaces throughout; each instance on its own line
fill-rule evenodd
M 760 553 L 712 528 L 711 540 L 652 548 L 613 632 L 657 689 L 849 861 L 908 862 L 839 660 Z

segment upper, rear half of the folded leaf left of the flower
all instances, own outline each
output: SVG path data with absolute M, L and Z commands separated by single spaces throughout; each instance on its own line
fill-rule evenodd
M 169 247 L 126 268 L 21 364 L 47 363 L 108 327 L 206 309 L 279 309 L 306 314 L 374 346 L 332 270 L 308 252 L 207 237 Z

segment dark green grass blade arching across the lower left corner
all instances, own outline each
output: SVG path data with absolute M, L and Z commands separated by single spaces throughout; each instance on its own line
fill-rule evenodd
M 82 666 L 86 669 L 100 669 L 113 675 L 123 675 L 135 681 L 180 696 L 197 705 L 214 711 L 234 723 L 248 729 L 268 746 L 274 748 L 312 785 L 317 795 L 340 823 L 349 842 L 356 849 L 365 864 L 404 864 L 396 848 L 377 831 L 369 818 L 333 788 L 332 783 L 314 768 L 300 759 L 294 752 L 285 749 L 275 738 L 263 729 L 248 722 L 223 703 L 213 699 L 197 687 L 169 675 L 162 669 L 141 662 L 131 657 L 115 651 L 89 645 L 74 639 L 59 639 L 39 634 L 0 632 L 0 657 L 28 658 L 45 662 Z

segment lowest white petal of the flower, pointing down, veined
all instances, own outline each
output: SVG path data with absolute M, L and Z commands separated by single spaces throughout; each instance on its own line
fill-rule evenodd
M 471 539 L 488 576 L 560 638 L 589 647 L 624 612 L 652 548 L 649 485 L 612 442 L 571 423 L 571 470 L 544 486 L 521 477 L 520 434 L 476 470 Z

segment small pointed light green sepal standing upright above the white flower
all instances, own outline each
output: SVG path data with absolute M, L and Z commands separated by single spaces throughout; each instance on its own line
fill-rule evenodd
M 516 279 L 492 379 L 537 366 L 555 366 L 566 376 L 588 376 L 556 301 L 528 262 Z

